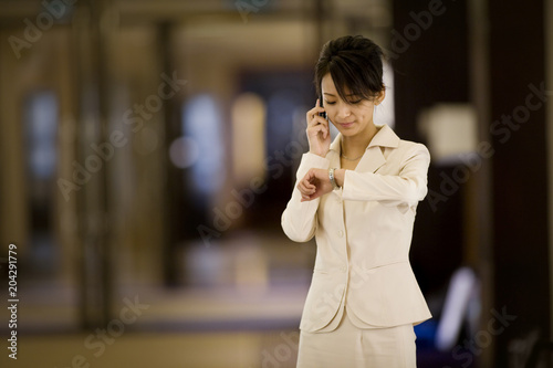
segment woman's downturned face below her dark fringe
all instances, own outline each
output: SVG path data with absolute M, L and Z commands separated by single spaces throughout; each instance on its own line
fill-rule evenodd
M 340 97 L 330 73 L 323 76 L 321 90 L 326 116 L 338 132 L 347 137 L 366 132 L 367 128 L 374 125 L 373 113 L 375 105 L 378 105 L 384 99 L 383 92 L 374 101 L 351 95 L 348 96 L 349 102 L 345 102 Z

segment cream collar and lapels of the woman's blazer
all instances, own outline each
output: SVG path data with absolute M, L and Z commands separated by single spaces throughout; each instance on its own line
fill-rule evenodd
M 378 128 L 378 132 L 373 137 L 368 147 L 361 158 L 355 171 L 361 172 L 375 172 L 384 164 L 386 164 L 386 158 L 384 157 L 384 149 L 382 148 L 397 148 L 399 146 L 399 137 L 392 130 L 388 125 L 383 125 Z M 342 134 L 338 134 L 331 144 L 328 159 L 333 167 L 341 167 L 340 155 L 342 147 L 340 143 L 342 141 Z

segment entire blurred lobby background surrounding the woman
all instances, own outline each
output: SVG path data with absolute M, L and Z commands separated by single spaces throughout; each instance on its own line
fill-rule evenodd
M 551 20 L 550 0 L 0 1 L 1 366 L 294 367 L 315 244 L 280 215 L 321 46 L 363 34 L 387 53 L 376 123 L 432 155 L 418 366 L 550 367 Z

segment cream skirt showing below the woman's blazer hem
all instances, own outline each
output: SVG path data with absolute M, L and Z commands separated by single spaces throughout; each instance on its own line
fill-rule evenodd
M 300 334 L 298 368 L 415 368 L 413 325 L 358 328 L 344 311 L 336 329 Z

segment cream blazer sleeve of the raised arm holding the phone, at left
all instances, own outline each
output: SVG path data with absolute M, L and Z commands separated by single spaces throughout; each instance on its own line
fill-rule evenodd
M 316 230 L 316 210 L 321 198 L 302 202 L 302 194 L 298 189 L 299 180 L 303 179 L 311 168 L 327 169 L 330 160 L 311 153 L 304 154 L 296 172 L 296 181 L 292 198 L 282 213 L 282 230 L 288 238 L 295 242 L 306 242 L 313 238 Z

